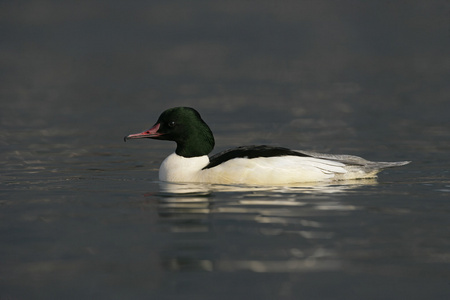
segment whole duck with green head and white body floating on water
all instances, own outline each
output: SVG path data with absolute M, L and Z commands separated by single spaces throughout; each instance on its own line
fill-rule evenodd
M 272 146 L 243 146 L 208 157 L 214 136 L 190 107 L 164 111 L 156 124 L 124 140 L 151 138 L 174 141 L 175 153 L 159 169 L 159 180 L 213 184 L 282 185 L 373 178 L 384 168 L 409 161 L 372 162 L 358 156 L 322 154 Z

